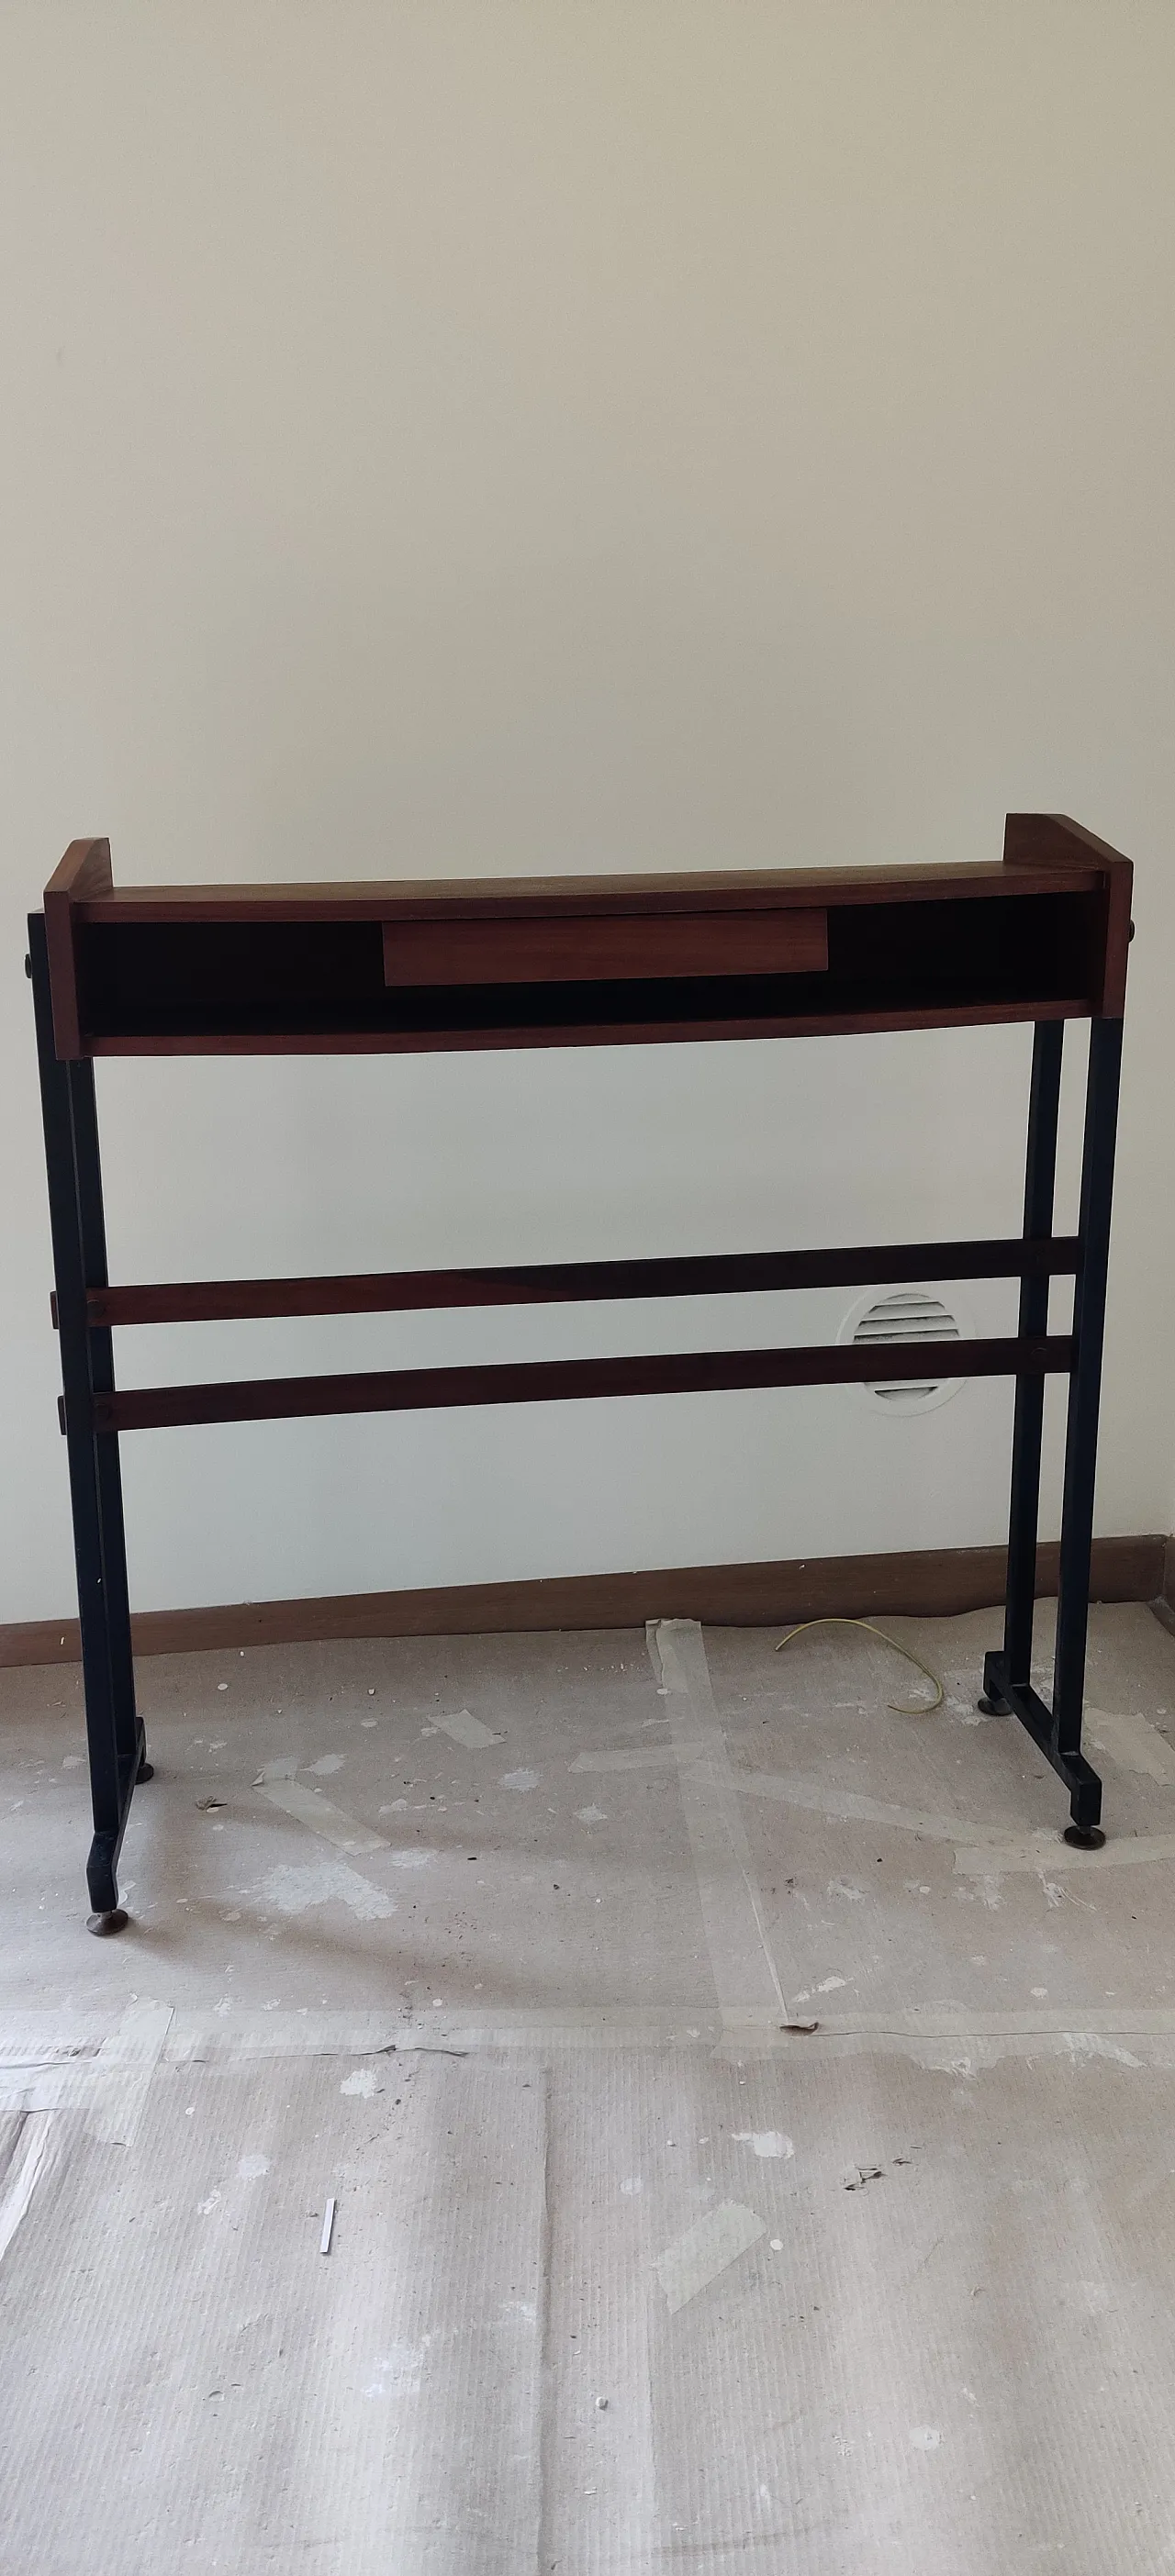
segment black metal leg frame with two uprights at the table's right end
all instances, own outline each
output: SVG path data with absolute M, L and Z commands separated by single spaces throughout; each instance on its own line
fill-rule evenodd
M 1041 1030 L 1038 1030 L 1041 1036 Z M 1033 1121 L 1038 1110 L 1033 1056 Z M 1020 1718 L 1069 1790 L 1067 1842 L 1100 1844 L 1098 1772 L 1082 1754 L 1085 1631 L 1090 1615 L 1093 1484 L 1098 1466 L 1098 1404 L 1105 1329 L 1105 1270 L 1111 1252 L 1113 1146 L 1118 1133 L 1121 1020 L 1090 1023 L 1090 1077 L 1085 1092 L 1085 1154 L 1080 1206 L 1080 1270 L 1075 1285 L 1069 1419 L 1064 1443 L 1062 1574 L 1056 1597 L 1054 1705 L 1031 1685 L 1031 1584 L 1036 1574 L 1036 1507 L 1041 1476 L 1041 1396 L 1026 1406 L 1026 1381 L 1015 1391 L 1013 1528 L 1008 1548 L 1008 1623 L 1002 1654 L 984 1659 L 984 1698 Z M 1051 1151 L 1056 1103 L 1051 1108 Z M 1044 1121 L 1041 1121 L 1044 1133 Z M 1033 1188 L 1044 1190 L 1044 1154 L 1033 1157 L 1028 1131 L 1026 1231 Z M 1049 1172 L 1051 1198 L 1051 1172 Z M 1033 1229 L 1036 1231 L 1036 1229 Z M 1020 1332 L 1033 1283 L 1020 1293 Z

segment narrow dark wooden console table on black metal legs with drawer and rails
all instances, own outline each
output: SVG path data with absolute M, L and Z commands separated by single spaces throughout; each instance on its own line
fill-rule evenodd
M 876 1347 L 701 1350 L 673 1358 L 397 1368 L 119 1394 L 113 1329 L 211 1316 L 523 1306 L 1018 1278 L 1015 1337 L 951 1347 L 951 1376 L 1013 1376 L 1005 1643 L 984 1700 L 1015 1716 L 1069 1790 L 1067 1839 L 1103 1842 L 1082 1754 L 1093 1481 L 1113 1141 L 1131 938 L 1131 863 L 1056 814 L 1010 814 L 1000 866 L 721 876 L 487 878 L 350 886 L 113 886 L 106 840 L 77 840 L 28 920 L 41 1064 L 62 1430 L 77 1556 L 93 1785 L 90 1929 L 113 1932 L 137 1780 L 119 1435 L 175 1422 L 536 1404 L 721 1386 L 868 1381 Z M 1031 1020 L 1023 1234 L 685 1260 L 407 1270 L 309 1280 L 111 1288 L 95 1056 L 405 1054 L 487 1046 L 652 1046 Z M 1056 1236 L 1054 1167 L 1067 1020 L 1090 1020 L 1082 1200 Z M 1075 1280 L 1072 1332 L 1049 1283 Z M 1069 1378 L 1051 1708 L 1031 1685 L 1044 1378 Z M 925 1376 L 894 1345 L 886 1376 Z

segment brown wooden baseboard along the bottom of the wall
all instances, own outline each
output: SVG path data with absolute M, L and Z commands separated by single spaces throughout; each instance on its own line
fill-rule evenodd
M 1056 1592 L 1056 1540 L 1041 1546 L 1041 1595 Z M 801 1618 L 946 1618 L 1002 1602 L 1002 1548 L 922 1548 L 902 1556 L 809 1556 L 791 1564 L 673 1566 L 649 1574 L 557 1574 L 515 1584 L 428 1592 L 332 1592 L 294 1602 L 216 1602 L 139 1610 L 137 1654 L 209 1646 L 294 1646 L 335 1636 L 490 1636 L 526 1628 L 642 1628 L 698 1618 L 773 1628 Z M 1175 1540 L 1095 1538 L 1093 1597 L 1175 1602 Z M 0 1664 L 75 1664 L 77 1620 L 0 1625 Z

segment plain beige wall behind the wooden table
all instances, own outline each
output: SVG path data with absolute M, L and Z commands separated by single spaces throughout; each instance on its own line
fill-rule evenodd
M 8 0 L 0 1615 L 72 1592 L 21 958 L 80 832 L 232 878 L 984 858 L 1005 806 L 1077 814 L 1139 863 L 1100 1525 L 1170 1528 L 1172 95 L 1167 0 Z M 1026 1064 L 113 1064 L 113 1273 L 1015 1226 Z M 845 1303 L 258 1324 L 124 1376 Z M 1008 1412 L 144 1435 L 134 1597 L 987 1540 Z

